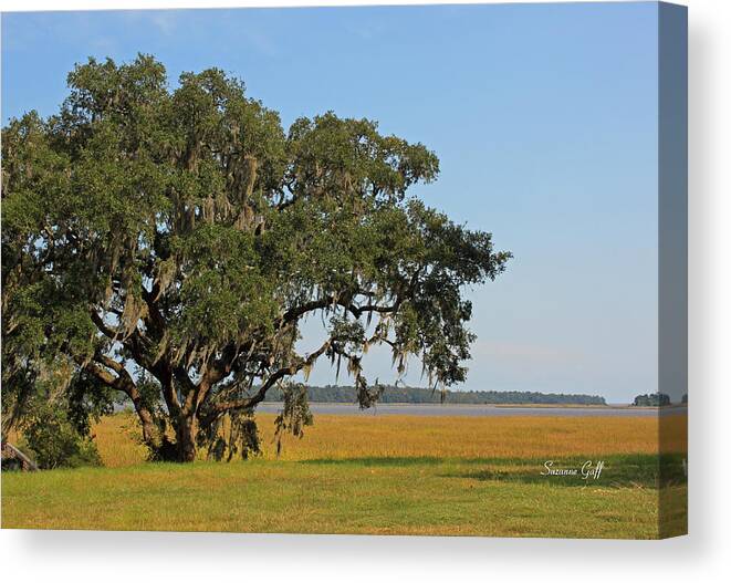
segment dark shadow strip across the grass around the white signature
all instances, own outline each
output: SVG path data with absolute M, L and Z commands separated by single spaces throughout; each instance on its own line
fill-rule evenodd
M 422 457 L 366 457 L 346 459 L 311 459 L 306 465 L 353 466 L 353 467 L 399 467 L 443 466 L 441 478 L 498 481 L 504 483 L 541 483 L 561 487 L 586 486 L 604 488 L 659 488 L 687 483 L 681 454 L 613 455 L 564 457 L 554 459 L 522 458 L 438 458 Z M 556 473 L 549 473 L 546 462 Z M 587 462 L 591 462 L 588 465 Z M 591 473 L 603 462 L 595 478 Z M 566 473 L 561 470 L 568 470 Z

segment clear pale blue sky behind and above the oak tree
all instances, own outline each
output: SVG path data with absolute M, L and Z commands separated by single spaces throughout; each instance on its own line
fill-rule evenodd
M 657 42 L 655 2 L 10 13 L 2 121 L 54 113 L 74 63 L 137 52 L 173 82 L 231 72 L 285 125 L 377 119 L 440 157 L 419 196 L 515 256 L 469 291 L 462 387 L 628 402 L 657 391 Z

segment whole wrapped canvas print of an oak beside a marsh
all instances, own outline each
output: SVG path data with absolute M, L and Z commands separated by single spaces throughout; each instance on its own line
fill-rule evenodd
M 2 14 L 2 528 L 687 532 L 687 11 Z

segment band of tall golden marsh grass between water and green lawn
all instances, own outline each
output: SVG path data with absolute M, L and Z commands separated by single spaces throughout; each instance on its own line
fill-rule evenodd
M 275 458 L 274 415 L 257 417 L 264 459 Z M 685 451 L 687 417 L 662 420 L 664 449 Z M 281 460 L 369 457 L 541 458 L 656 454 L 657 417 L 427 417 L 316 415 L 302 439 L 285 436 Z M 93 430 L 107 467 L 145 460 L 135 417 L 104 418 Z

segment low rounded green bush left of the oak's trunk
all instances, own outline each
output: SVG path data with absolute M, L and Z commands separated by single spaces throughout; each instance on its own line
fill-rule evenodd
M 96 444 L 80 434 L 66 414 L 53 406 L 34 406 L 23 436 L 24 448 L 42 469 L 102 465 Z

